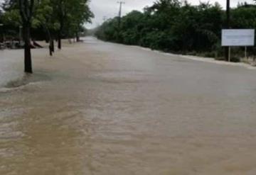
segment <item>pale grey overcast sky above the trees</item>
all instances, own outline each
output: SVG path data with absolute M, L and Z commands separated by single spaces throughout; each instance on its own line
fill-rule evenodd
M 112 18 L 117 16 L 119 11 L 119 4 L 117 4 L 118 0 L 91 0 L 90 8 L 92 12 L 95 14 L 95 18 L 92 20 L 92 24 L 86 24 L 87 28 L 95 28 L 99 26 L 103 22 L 104 16 L 106 18 Z M 156 0 L 125 0 L 125 4 L 123 5 L 123 13 L 122 15 L 129 13 L 132 10 L 142 11 L 145 6 L 151 6 L 153 2 Z M 208 0 L 201 0 L 202 2 Z M 225 9 L 226 0 L 210 0 L 211 4 L 214 4 L 215 1 L 223 6 Z M 244 2 L 245 0 L 230 0 L 230 6 L 237 6 L 238 2 Z M 199 0 L 188 0 L 191 4 L 199 4 Z M 246 0 L 247 3 L 252 3 L 252 0 Z

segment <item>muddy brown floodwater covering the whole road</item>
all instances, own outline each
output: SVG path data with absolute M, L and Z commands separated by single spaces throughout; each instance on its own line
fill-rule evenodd
M 1 175 L 256 174 L 256 71 L 85 38 L 0 50 Z

